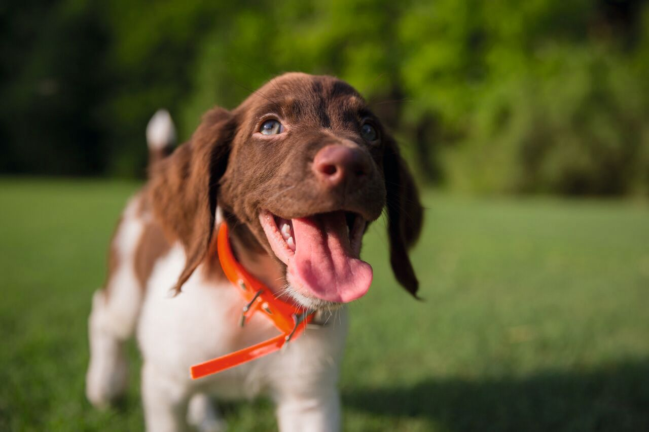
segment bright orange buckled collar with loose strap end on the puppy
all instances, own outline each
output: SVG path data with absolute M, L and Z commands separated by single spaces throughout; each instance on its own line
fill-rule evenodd
M 246 306 L 243 307 L 241 313 L 239 326 L 243 327 L 250 320 L 252 314 L 260 311 L 275 324 L 277 330 L 282 334 L 248 348 L 243 348 L 243 350 L 222 355 L 199 365 L 193 365 L 190 368 L 192 379 L 215 374 L 263 355 L 271 354 L 271 352 L 285 346 L 289 341 L 297 339 L 306 328 L 306 324 L 313 320 L 313 311 L 304 309 L 304 307 L 293 306 L 276 298 L 262 282 L 247 272 L 239 261 L 234 258 L 230 240 L 228 239 L 228 227 L 225 222 L 221 223 L 219 227 L 217 252 L 225 276 L 232 282 L 232 285 L 236 287 L 246 302 Z

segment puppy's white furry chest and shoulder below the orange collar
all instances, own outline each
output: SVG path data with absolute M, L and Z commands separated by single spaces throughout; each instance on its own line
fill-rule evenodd
M 178 383 L 221 398 L 249 398 L 278 386 L 336 380 L 347 333 L 344 309 L 325 316 L 326 326 L 307 329 L 280 352 L 192 381 L 191 365 L 270 339 L 278 330 L 260 314 L 239 327 L 243 298 L 229 282 L 206 280 L 201 267 L 183 285 L 183 292 L 172 297 L 169 290 L 184 261 L 182 247 L 175 245 L 158 260 L 149 279 L 138 325 L 147 364 Z

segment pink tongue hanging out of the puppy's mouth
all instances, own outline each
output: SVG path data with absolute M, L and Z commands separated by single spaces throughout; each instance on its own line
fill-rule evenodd
M 351 302 L 367 293 L 372 266 L 354 258 L 345 213 L 293 219 L 293 235 L 288 272 L 295 289 L 330 302 Z

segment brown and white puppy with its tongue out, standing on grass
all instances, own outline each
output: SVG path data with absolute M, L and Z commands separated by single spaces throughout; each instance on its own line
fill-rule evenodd
M 122 215 L 108 280 L 93 298 L 88 398 L 103 406 L 124 390 L 122 345 L 137 326 L 147 430 L 186 422 L 220 430 L 212 396 L 260 392 L 275 400 L 282 431 L 339 429 L 347 331 L 339 306 L 369 289 L 361 239 L 384 209 L 393 271 L 417 293 L 407 249 L 422 208 L 395 141 L 349 84 L 302 73 L 271 80 L 234 110 L 214 108 L 167 156 L 172 136 L 168 114 L 156 114 L 147 130 L 151 180 Z M 215 256 L 221 218 L 254 276 L 335 316 L 282 352 L 192 381 L 191 365 L 276 335 L 260 316 L 238 326 L 244 301 Z

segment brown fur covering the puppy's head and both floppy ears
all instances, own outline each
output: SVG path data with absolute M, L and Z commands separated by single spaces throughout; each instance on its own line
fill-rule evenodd
M 269 114 L 287 127 L 272 140 L 254 133 Z M 361 138 L 364 120 L 378 131 L 377 142 Z M 371 169 L 362 184 L 345 182 L 325 189 L 318 182 L 311 169 L 313 158 L 332 144 L 352 148 L 369 161 Z M 415 183 L 379 119 L 356 90 L 337 78 L 289 73 L 271 80 L 232 111 L 214 108 L 188 143 L 156 163 L 149 186 L 156 221 L 169 241 L 182 243 L 188 256 L 178 291 L 199 263 L 214 254 L 218 202 L 237 243 L 273 257 L 258 221 L 261 209 L 286 219 L 345 210 L 374 221 L 387 206 L 393 269 L 397 280 L 417 293 L 406 252 L 422 224 Z M 160 247 L 151 240 L 147 245 Z

